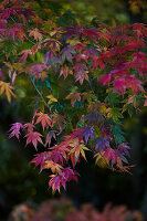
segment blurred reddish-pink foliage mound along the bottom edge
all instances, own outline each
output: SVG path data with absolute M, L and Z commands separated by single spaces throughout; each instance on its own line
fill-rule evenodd
M 34 209 L 28 204 L 20 204 L 11 212 L 10 221 L 141 221 L 139 211 L 129 211 L 125 206 L 107 203 L 102 212 L 98 212 L 93 204 L 86 203 L 80 210 L 75 209 L 67 199 L 45 201 L 40 209 Z

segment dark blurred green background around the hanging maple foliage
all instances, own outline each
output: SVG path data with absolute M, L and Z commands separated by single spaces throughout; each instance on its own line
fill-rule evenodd
M 134 22 L 147 22 L 147 3 L 139 1 L 130 4 L 129 0 L 36 0 L 34 8 L 44 19 L 61 15 L 60 22 L 76 18 L 83 23 L 102 21 L 111 25 Z M 50 8 L 50 10 L 45 10 Z M 67 11 L 67 13 L 65 13 Z M 66 14 L 72 14 L 66 17 Z M 24 148 L 24 140 L 9 140 L 8 130 L 14 122 L 29 122 L 33 108 L 38 104 L 36 93 L 25 78 L 17 80 L 20 98 L 11 104 L 0 97 L 0 220 L 7 220 L 15 204 L 33 201 L 40 203 L 52 196 L 48 189 L 49 173 L 34 169 L 29 161 L 35 151 Z M 34 97 L 35 104 L 34 104 Z M 114 204 L 126 204 L 130 209 L 139 209 L 147 217 L 147 108 L 141 114 L 125 120 L 127 139 L 132 144 L 132 161 L 135 165 L 133 175 L 123 175 L 98 168 L 92 156 L 87 162 L 77 167 L 81 177 L 77 183 L 71 182 L 66 196 L 76 207 L 91 202 L 99 210 L 112 201 Z

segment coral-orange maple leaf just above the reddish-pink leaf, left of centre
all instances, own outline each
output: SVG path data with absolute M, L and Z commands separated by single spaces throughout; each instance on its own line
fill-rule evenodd
M 40 112 L 40 113 L 35 113 L 34 117 L 38 117 L 35 124 L 41 123 L 43 130 L 45 127 L 52 126 L 52 119 L 50 118 L 48 114 Z

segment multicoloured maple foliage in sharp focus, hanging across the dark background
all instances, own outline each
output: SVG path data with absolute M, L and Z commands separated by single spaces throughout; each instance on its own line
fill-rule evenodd
M 123 120 L 147 104 L 146 24 L 84 25 L 72 12 L 40 18 L 35 7 L 15 0 L 0 6 L 0 94 L 11 102 L 24 75 L 40 97 L 32 120 L 14 123 L 10 138 L 23 130 L 27 146 L 38 151 L 42 145 L 31 161 L 50 169 L 53 192 L 77 180 L 75 166 L 86 151 L 99 166 L 129 172 Z

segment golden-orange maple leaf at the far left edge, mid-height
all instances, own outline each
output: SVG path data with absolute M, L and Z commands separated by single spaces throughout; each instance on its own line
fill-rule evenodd
M 17 95 L 12 92 L 14 90 L 10 83 L 6 83 L 0 81 L 0 95 L 6 94 L 9 102 L 11 102 L 11 97 L 17 97 Z

